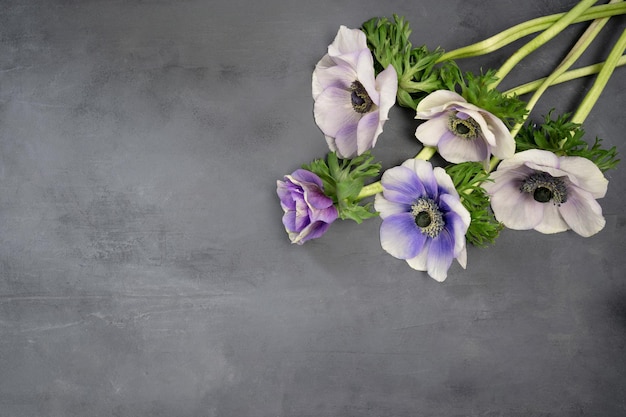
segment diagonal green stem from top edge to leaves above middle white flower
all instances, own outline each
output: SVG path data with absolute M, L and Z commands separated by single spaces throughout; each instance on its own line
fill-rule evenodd
M 589 9 L 597 0 L 581 0 L 563 17 L 554 22 L 548 29 L 541 32 L 526 45 L 518 49 L 496 72 L 497 81 L 492 83 L 491 88 L 495 88 L 502 79 L 527 55 L 554 38 L 561 33 L 563 29 L 568 27 L 576 17 L 580 16 L 585 10 Z

